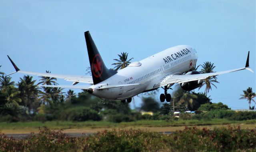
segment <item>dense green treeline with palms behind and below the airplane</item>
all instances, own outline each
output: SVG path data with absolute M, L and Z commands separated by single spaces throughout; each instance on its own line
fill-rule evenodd
M 49 72 L 49 71 L 46 71 Z M 50 72 L 49 72 L 50 73 Z M 54 85 L 56 78 L 41 76 L 38 84 Z M 77 95 L 73 90 L 66 93 L 61 88 L 38 87 L 32 76 L 24 76 L 15 84 L 10 76 L 0 74 L 0 121 L 110 121 L 130 122 L 136 120 L 170 120 L 175 119 L 174 111 L 186 110 L 223 112 L 208 112 L 184 119 L 228 118 L 235 120 L 254 119 L 254 113 L 242 113 L 239 116 L 230 112 L 227 105 L 210 102 L 205 93 L 187 92 L 182 89 L 174 91 L 170 103 L 160 105 L 154 98 L 157 91 L 140 95 L 142 104 L 131 109 L 128 103 L 116 100 L 102 100 L 92 96 L 85 90 Z M 136 101 L 135 101 L 136 102 Z M 132 103 L 130 103 L 132 104 Z M 173 107 L 174 105 L 174 107 Z M 153 112 L 153 116 L 142 115 L 140 112 Z M 225 116 L 224 116 L 225 115 Z

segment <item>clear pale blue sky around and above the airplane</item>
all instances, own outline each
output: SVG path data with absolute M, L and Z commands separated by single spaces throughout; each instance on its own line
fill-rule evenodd
M 90 65 L 84 32 L 90 30 L 108 68 L 121 52 L 137 61 L 187 44 L 196 48 L 198 65 L 210 61 L 216 71 L 243 67 L 250 51 L 256 71 L 255 8 L 255 0 L 0 1 L 0 70 L 14 72 L 9 55 L 22 70 L 83 75 Z M 248 108 L 239 98 L 249 86 L 256 92 L 255 73 L 233 72 L 218 81 L 212 102 Z

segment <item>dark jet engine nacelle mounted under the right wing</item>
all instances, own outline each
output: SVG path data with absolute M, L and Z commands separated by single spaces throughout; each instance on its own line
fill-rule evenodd
M 188 74 L 201 74 L 201 73 L 198 71 L 190 71 L 190 72 L 186 73 L 185 75 L 188 75 Z M 200 83 L 198 83 L 198 82 L 200 82 Z M 202 86 L 202 84 L 203 84 L 202 80 L 196 80 L 196 81 L 181 83 L 180 86 L 183 90 L 191 91 L 191 90 L 194 90 L 194 89 Z

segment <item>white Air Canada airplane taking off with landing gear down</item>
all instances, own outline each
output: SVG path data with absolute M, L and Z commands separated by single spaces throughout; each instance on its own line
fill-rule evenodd
M 174 84 L 180 84 L 182 89 L 190 91 L 200 87 L 204 79 L 210 76 L 244 69 L 253 72 L 249 66 L 250 51 L 244 68 L 204 74 L 192 71 L 191 69 L 196 65 L 198 55 L 196 50 L 188 45 L 168 48 L 141 61 L 132 62 L 126 68 L 114 71 L 106 68 L 90 32 L 84 32 L 84 36 L 92 76 L 23 71 L 16 66 L 9 56 L 8 58 L 17 73 L 63 78 L 73 82 L 72 85 L 41 85 L 42 87 L 85 89 L 90 94 L 102 99 L 121 100 L 121 102 L 127 101 L 128 103 L 132 101 L 133 96 L 160 87 L 164 89 L 164 93 L 160 94 L 160 101 L 170 102 L 172 98 L 167 91 Z M 76 85 L 78 83 L 86 83 L 87 85 Z

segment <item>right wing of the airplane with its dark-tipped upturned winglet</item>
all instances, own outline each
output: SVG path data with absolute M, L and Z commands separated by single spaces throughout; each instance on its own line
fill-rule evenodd
M 250 52 L 248 52 L 246 66 L 244 68 L 238 68 L 238 69 L 234 69 L 234 70 L 226 70 L 226 71 L 221 71 L 221 72 L 204 73 L 204 74 L 170 75 L 170 76 L 168 76 L 167 79 L 164 79 L 160 83 L 155 84 L 154 88 L 159 88 L 162 86 L 166 86 L 168 84 L 184 83 L 184 82 L 190 82 L 190 81 L 195 81 L 195 80 L 202 80 L 202 79 L 208 78 L 210 76 L 217 76 L 220 74 L 235 72 L 235 71 L 244 70 L 244 69 L 247 69 L 247 70 L 250 70 L 251 72 L 253 72 L 252 69 L 249 67 L 249 54 L 250 54 Z

